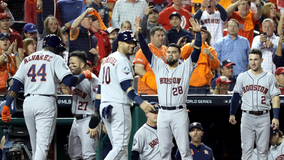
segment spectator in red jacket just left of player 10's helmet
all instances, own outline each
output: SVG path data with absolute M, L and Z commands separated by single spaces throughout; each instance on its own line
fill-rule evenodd
M 101 60 L 111 53 L 111 45 L 107 33 L 101 29 L 100 21 L 97 18 L 94 19 L 91 30 L 94 32 L 94 36 L 96 36 L 98 39 L 98 52 L 100 59 L 98 63 L 94 66 L 93 70 L 94 74 L 96 76 L 99 76 Z

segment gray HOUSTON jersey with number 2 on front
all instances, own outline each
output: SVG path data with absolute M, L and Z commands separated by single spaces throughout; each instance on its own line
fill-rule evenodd
M 263 71 L 255 76 L 251 70 L 238 76 L 234 92 L 242 96 L 241 109 L 247 111 L 270 110 L 271 98 L 281 94 L 273 74 Z

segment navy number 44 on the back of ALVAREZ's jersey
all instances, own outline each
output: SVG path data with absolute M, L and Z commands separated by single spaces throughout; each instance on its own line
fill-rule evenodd
M 28 71 L 28 77 L 32 77 L 31 82 L 36 82 L 36 77 L 41 77 L 40 81 L 46 81 L 46 64 L 42 64 L 39 68 L 39 70 L 36 72 L 36 65 L 33 64 L 29 71 Z

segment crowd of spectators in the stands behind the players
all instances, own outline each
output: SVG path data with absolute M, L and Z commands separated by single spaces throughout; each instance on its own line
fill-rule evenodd
M 142 19 L 142 35 L 152 53 L 168 63 L 167 45 L 174 43 L 181 47 L 180 64 L 196 47 L 190 18 L 198 21 L 201 53 L 188 94 L 232 94 L 238 75 L 250 69 L 248 57 L 253 48 L 261 50 L 261 67 L 275 75 L 284 94 L 283 0 L 25 0 L 26 24 L 21 30 L 13 27 L 18 23 L 14 19 L 17 12 L 9 10 L 7 1 L 0 4 L 1 94 L 21 61 L 41 51 L 44 38 L 51 34 L 62 40 L 66 50 L 59 54 L 68 66 L 72 66 L 70 53 L 84 51 L 86 68 L 99 77 L 105 58 L 118 49 L 119 33 L 131 30 L 139 39 L 137 17 Z M 138 42 L 127 58 L 138 79 L 138 94 L 156 95 L 155 74 Z M 58 94 L 72 94 L 72 88 L 57 85 Z M 147 118 L 151 120 L 152 114 Z M 190 131 L 190 136 L 196 132 L 202 137 L 199 125 L 191 126 L 196 131 Z

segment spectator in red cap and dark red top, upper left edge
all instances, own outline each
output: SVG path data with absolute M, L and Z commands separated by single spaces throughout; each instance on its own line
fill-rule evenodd
M 10 36 L 10 43 L 12 44 L 16 40 L 16 50 L 15 54 L 18 53 L 20 57 L 23 57 L 23 40 L 19 33 L 12 32 L 10 30 L 10 20 L 11 17 L 8 15 L 8 13 L 4 12 L 0 14 L 0 31 L 1 33 L 8 33 Z

